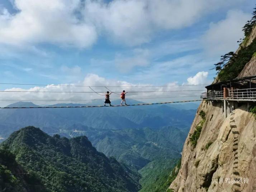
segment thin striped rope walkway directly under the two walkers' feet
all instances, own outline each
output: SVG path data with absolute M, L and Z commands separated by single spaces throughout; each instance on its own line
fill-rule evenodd
M 0 109 L 35 109 L 35 108 L 84 108 L 84 107 L 127 107 L 127 106 L 141 106 L 141 105 L 158 105 L 158 104 L 172 104 L 172 103 L 182 103 L 182 102 L 193 102 L 193 101 L 203 101 L 203 100 L 190 100 L 190 101 L 170 101 L 170 102 L 158 102 L 158 103 L 143 103 L 143 104 L 133 104 L 133 105 L 112 105 L 112 106 L 44 106 L 44 107 L 0 107 Z

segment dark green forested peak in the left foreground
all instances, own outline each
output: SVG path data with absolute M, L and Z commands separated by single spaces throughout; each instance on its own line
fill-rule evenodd
M 140 188 L 137 172 L 98 152 L 86 136 L 49 136 L 29 126 L 11 134 L 2 145 L 52 192 L 135 192 Z

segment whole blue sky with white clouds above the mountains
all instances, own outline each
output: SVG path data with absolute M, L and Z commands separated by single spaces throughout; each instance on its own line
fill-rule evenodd
M 203 90 L 204 86 L 176 85 L 211 83 L 216 72 L 210 69 L 221 55 L 236 51 L 254 7 L 253 0 L 0 0 L 0 83 L 168 85 L 125 89 Z M 123 89 L 113 87 L 112 91 Z M 88 87 L 3 84 L 0 90 L 90 91 Z M 106 88 L 95 87 L 95 91 Z M 173 101 L 196 99 L 201 92 L 130 93 L 129 98 Z M 177 98 L 160 98 L 172 96 Z M 0 100 L 102 97 L 95 93 L 0 94 Z M 11 102 L 0 101 L 0 106 Z

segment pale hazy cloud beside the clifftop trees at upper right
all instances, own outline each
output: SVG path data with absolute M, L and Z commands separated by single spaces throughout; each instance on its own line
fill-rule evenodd
M 227 17 L 217 23 L 211 23 L 203 35 L 202 42 L 210 56 L 221 56 L 238 48 L 237 40 L 243 38 L 242 27 L 251 18 L 250 14 L 240 10 L 228 11 Z

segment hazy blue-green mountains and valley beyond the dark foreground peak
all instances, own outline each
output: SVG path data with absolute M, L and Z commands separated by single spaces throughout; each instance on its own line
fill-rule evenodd
M 18 102 L 11 106 L 31 105 L 34 104 Z M 58 105 L 63 104 L 55 106 Z M 0 110 L 0 136 L 6 138 L 11 132 L 27 125 L 39 126 L 54 139 L 57 139 L 55 134 L 71 140 L 86 136 L 99 152 L 108 158 L 113 156 L 122 165 L 131 166 L 134 172 L 131 177 L 141 183 L 142 191 L 147 191 L 149 186 L 157 190 L 166 182 L 170 170 L 181 157 L 180 152 L 195 114 L 194 109 L 185 110 L 185 106 L 181 106 L 183 109 L 179 109 L 178 105 L 176 108 L 160 105 Z M 20 157 L 24 155 L 22 153 Z

